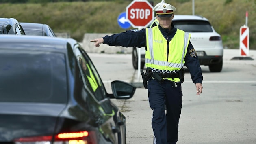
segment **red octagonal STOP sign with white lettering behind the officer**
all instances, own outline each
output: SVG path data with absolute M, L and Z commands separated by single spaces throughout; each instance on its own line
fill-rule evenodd
M 146 27 L 154 19 L 153 6 L 146 0 L 134 0 L 126 7 L 126 19 L 134 28 Z

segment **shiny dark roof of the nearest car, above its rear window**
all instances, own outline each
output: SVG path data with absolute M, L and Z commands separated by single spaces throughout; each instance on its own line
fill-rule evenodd
M 0 35 L 0 49 L 26 49 L 67 53 L 67 45 L 78 44 L 72 38 L 48 36 Z

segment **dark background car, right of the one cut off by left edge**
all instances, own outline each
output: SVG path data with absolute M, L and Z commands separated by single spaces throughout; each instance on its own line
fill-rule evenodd
M 26 35 L 56 37 L 52 28 L 47 24 L 24 22 L 20 22 L 20 24 L 22 25 Z

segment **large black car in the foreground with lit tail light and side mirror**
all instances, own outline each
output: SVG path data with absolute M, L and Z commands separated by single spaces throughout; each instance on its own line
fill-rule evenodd
M 0 143 L 125 144 L 126 118 L 74 39 L 0 35 Z

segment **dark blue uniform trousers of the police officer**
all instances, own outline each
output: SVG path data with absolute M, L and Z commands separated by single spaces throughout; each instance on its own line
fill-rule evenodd
M 148 80 L 148 99 L 153 110 L 154 144 L 176 144 L 182 108 L 181 83 L 173 87 L 173 82 L 169 80 L 161 84 L 155 79 Z

